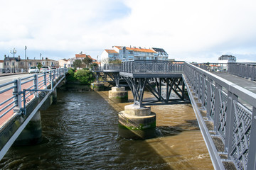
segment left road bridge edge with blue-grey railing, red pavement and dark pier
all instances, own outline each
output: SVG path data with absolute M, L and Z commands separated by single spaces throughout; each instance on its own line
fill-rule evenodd
M 67 71 L 54 69 L 0 84 L 0 159 L 13 144 L 41 142 L 40 110 L 56 101 L 56 88 Z

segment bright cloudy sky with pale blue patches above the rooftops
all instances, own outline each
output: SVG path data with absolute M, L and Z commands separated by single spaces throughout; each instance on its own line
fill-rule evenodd
M 53 60 L 112 45 L 161 47 L 169 58 L 256 62 L 255 0 L 8 0 L 0 6 L 0 60 Z

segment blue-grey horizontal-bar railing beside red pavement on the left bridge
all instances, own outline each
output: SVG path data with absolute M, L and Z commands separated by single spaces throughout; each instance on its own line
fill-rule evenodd
M 53 89 L 55 80 L 65 72 L 68 69 L 60 68 L 0 84 L 0 125 L 14 113 L 24 113 L 26 104 L 43 90 Z

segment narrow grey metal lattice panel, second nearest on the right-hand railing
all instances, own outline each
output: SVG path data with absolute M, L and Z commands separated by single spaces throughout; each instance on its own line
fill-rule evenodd
M 220 91 L 220 111 L 219 111 L 219 122 L 218 122 L 218 134 L 225 142 L 225 129 L 226 129 L 226 120 L 227 120 L 227 103 L 228 103 L 228 94 L 224 91 Z

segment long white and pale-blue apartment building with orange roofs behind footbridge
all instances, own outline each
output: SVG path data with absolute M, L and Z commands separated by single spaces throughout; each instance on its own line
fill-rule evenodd
M 154 50 L 156 49 L 156 50 Z M 121 60 L 168 60 L 168 54 L 162 48 L 142 48 L 113 46 L 112 50 L 104 50 L 100 56 L 102 62 Z

